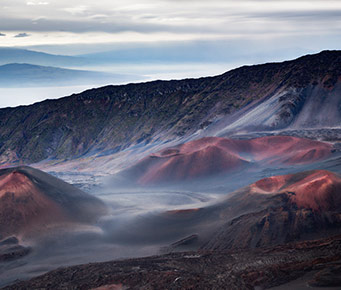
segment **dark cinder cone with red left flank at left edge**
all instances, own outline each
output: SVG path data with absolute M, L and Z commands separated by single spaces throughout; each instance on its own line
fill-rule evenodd
M 37 169 L 0 170 L 0 239 L 53 224 L 91 222 L 105 210 L 97 198 Z

